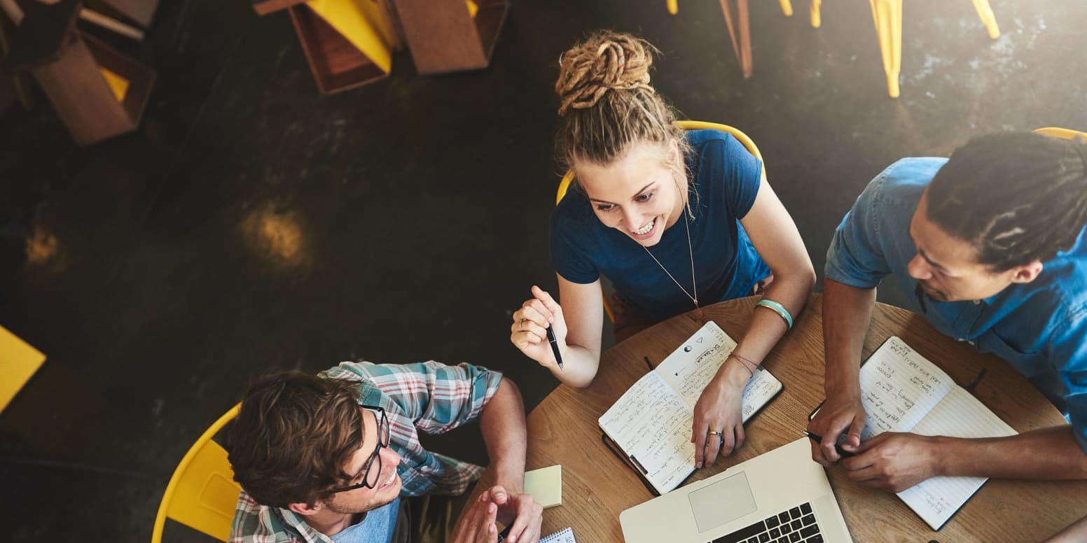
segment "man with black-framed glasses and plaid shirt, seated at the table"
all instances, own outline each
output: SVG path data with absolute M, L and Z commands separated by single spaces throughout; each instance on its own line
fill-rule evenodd
M 418 432 L 479 420 L 495 485 L 467 505 L 483 468 L 423 449 Z M 277 371 L 246 393 L 227 450 L 241 484 L 233 542 L 495 542 L 539 539 L 541 508 L 522 494 L 525 415 L 498 372 L 436 362 L 345 362 L 312 376 Z

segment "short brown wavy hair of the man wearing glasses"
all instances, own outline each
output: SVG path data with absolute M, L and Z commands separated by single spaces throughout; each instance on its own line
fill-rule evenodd
M 362 446 L 359 383 L 298 370 L 258 379 L 227 430 L 234 480 L 258 503 L 287 507 L 328 498 Z

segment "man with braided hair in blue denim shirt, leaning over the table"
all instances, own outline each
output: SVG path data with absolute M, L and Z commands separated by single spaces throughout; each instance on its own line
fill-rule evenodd
M 903 159 L 876 176 L 827 251 L 827 400 L 809 425 L 823 437 L 812 457 L 894 492 L 934 476 L 1087 478 L 1085 223 L 1082 140 L 984 136 L 950 159 Z M 889 275 L 914 294 L 910 310 L 1003 358 L 1070 424 L 994 439 L 886 432 L 862 443 L 861 346 Z M 835 451 L 839 437 L 855 456 Z

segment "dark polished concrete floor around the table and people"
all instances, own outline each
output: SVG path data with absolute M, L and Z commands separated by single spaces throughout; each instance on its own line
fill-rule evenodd
M 821 269 L 853 198 L 974 135 L 1087 129 L 1087 4 L 911 0 L 887 98 L 865 2 L 752 2 L 742 79 L 717 2 L 514 1 L 489 70 L 323 97 L 285 14 L 163 2 L 121 43 L 159 80 L 137 134 L 77 149 L 48 103 L 0 116 L 0 325 L 49 359 L 0 415 L 7 541 L 146 541 L 189 444 L 271 368 L 472 361 L 555 384 L 507 340 L 554 286 L 547 222 L 559 53 L 640 33 L 688 118 L 740 127 Z M 886 292 L 884 301 L 896 299 Z M 438 445 L 482 462 L 472 431 Z M 178 526 L 167 539 L 204 541 Z

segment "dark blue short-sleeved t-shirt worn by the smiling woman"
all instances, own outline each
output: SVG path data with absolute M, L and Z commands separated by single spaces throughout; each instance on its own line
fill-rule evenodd
M 751 294 L 770 268 L 755 252 L 739 219 L 759 193 L 762 164 L 732 135 L 692 130 L 690 171 L 690 250 L 683 218 L 649 248 L 675 280 L 691 291 L 695 257 L 700 305 Z M 555 272 L 576 283 L 608 276 L 623 300 L 654 321 L 695 308 L 690 299 L 626 233 L 604 226 L 582 190 L 571 190 L 551 215 L 551 261 Z M 694 292 L 691 292 L 694 293 Z

